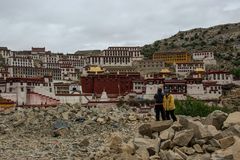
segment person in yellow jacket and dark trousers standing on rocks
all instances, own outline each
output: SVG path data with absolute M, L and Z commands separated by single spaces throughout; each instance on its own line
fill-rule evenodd
M 177 117 L 175 116 L 175 102 L 174 102 L 174 96 L 170 94 L 169 90 L 164 90 L 165 95 L 163 97 L 163 107 L 166 111 L 166 119 L 170 120 L 170 116 L 173 121 L 177 121 Z

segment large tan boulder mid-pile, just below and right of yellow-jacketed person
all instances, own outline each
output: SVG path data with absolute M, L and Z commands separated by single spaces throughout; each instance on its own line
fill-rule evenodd
M 193 135 L 194 132 L 192 129 L 179 131 L 175 134 L 173 143 L 178 146 L 187 146 L 193 138 Z

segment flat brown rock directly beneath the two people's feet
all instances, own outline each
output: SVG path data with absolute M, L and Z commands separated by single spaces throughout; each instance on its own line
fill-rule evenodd
M 168 129 L 173 124 L 172 120 L 166 120 L 166 121 L 154 121 L 151 125 L 152 132 L 161 132 L 165 129 Z

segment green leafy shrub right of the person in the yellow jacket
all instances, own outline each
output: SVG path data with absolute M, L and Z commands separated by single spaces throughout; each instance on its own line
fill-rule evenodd
M 175 113 L 178 115 L 186 115 L 186 116 L 200 116 L 206 117 L 208 114 L 212 113 L 215 110 L 221 110 L 223 112 L 229 113 L 230 110 L 218 106 L 209 106 L 203 101 L 194 100 L 192 98 L 187 98 L 185 101 L 177 101 L 175 102 L 176 109 Z

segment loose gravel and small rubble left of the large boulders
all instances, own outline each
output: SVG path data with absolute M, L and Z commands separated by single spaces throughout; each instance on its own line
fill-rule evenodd
M 129 107 L 17 108 L 0 112 L 1 159 L 99 159 L 113 132 L 121 141 L 134 136 L 139 124 L 152 121 Z M 114 145 L 113 142 L 112 145 Z

